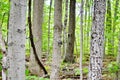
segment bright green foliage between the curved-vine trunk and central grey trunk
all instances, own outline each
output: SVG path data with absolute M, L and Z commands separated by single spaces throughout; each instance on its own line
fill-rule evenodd
M 48 20 L 49 20 L 49 8 L 50 6 L 48 5 L 48 3 L 45 3 L 44 6 L 44 20 L 43 20 L 43 24 L 42 24 L 42 50 L 43 52 L 46 52 L 48 50 Z M 53 8 L 51 9 L 51 12 L 53 12 Z M 52 50 L 53 44 L 53 14 L 51 13 L 51 21 L 50 21 L 50 52 Z

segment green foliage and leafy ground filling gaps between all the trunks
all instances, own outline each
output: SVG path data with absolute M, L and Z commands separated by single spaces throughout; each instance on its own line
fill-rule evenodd
M 51 8 L 51 20 L 50 20 L 50 51 L 48 53 L 48 21 L 49 21 L 49 10 L 50 10 L 50 5 L 49 5 L 50 0 L 45 0 L 44 3 L 44 13 L 43 13 L 43 24 L 42 24 L 42 59 L 41 61 L 43 62 L 45 68 L 48 71 L 48 74 L 50 75 L 51 71 L 51 62 L 52 62 L 52 53 L 53 53 L 53 28 L 54 28 L 54 7 L 52 4 Z M 62 79 L 66 80 L 71 80 L 71 76 L 79 76 L 80 75 L 80 68 L 79 68 L 79 56 L 80 56 L 80 1 L 77 0 L 76 3 L 76 29 L 75 29 L 75 44 L 74 44 L 74 58 L 75 58 L 75 63 L 65 63 L 63 62 L 63 58 L 65 57 L 65 54 L 63 53 L 63 45 L 62 45 L 62 62 L 60 65 L 60 76 Z M 119 2 L 119 0 L 118 0 Z M 65 15 L 65 0 L 63 0 L 63 17 L 62 17 L 62 22 L 64 23 L 64 15 Z M 91 26 L 92 26 L 92 5 L 93 1 L 92 0 L 85 0 L 84 5 L 84 16 L 83 16 L 83 76 L 87 77 L 88 72 L 89 72 L 89 55 L 90 55 L 90 37 L 91 37 Z M 103 60 L 103 78 L 105 76 L 104 80 L 109 80 L 108 75 L 112 75 L 120 71 L 120 62 L 117 62 L 117 57 L 120 54 L 120 4 L 116 6 L 116 0 L 111 0 L 110 1 L 111 8 L 110 12 L 106 12 L 105 18 L 105 47 L 104 47 L 104 60 Z M 7 37 L 8 37 L 8 21 L 9 21 L 9 0 L 0 0 L 0 29 L 2 30 L 2 36 L 3 39 L 5 40 L 5 43 L 7 43 Z M 28 12 L 28 11 L 27 11 Z M 110 15 L 111 14 L 111 15 Z M 28 16 L 28 15 L 27 15 Z M 33 16 L 32 16 L 33 17 Z M 108 20 L 107 20 L 108 18 Z M 110 21 L 109 21 L 110 19 Z M 69 21 L 69 20 L 68 20 Z M 28 22 L 26 22 L 26 59 L 29 62 L 30 58 L 30 50 L 31 50 L 31 45 L 30 45 L 30 37 L 29 37 L 29 29 L 28 29 Z M 64 26 L 64 25 L 63 25 Z M 66 28 L 66 35 L 68 35 L 68 24 Z M 62 33 L 63 35 L 63 33 Z M 62 36 L 62 41 L 63 41 L 63 36 Z M 66 43 L 62 43 L 66 44 Z M 0 46 L 1 48 L 2 46 Z M 8 47 L 6 45 L 6 47 Z M 0 73 L 2 72 L 2 51 L 0 49 Z M 70 72 L 72 74 L 66 73 Z M 42 71 L 41 71 L 42 72 Z M 49 78 L 43 78 L 43 75 L 40 77 L 32 75 L 30 70 L 26 68 L 25 71 L 26 74 L 26 80 L 49 80 Z M 107 76 L 106 76 L 107 75 Z M 0 75 L 1 77 L 1 75 Z M 110 76 L 110 80 L 113 80 L 112 76 Z

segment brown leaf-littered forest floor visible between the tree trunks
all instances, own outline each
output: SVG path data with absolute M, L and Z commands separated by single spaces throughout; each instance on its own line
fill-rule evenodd
M 47 69 L 48 73 L 50 73 L 51 61 L 47 61 L 46 57 L 43 57 L 42 62 L 44 63 L 44 66 Z M 83 80 L 87 80 L 88 71 L 89 71 L 88 66 L 89 66 L 89 55 L 87 54 L 83 58 Z M 60 71 L 61 80 L 79 80 L 80 79 L 79 57 L 76 58 L 75 63 L 72 63 L 72 64 L 62 62 L 60 68 L 61 68 L 61 71 Z M 103 60 L 102 80 L 114 80 L 116 70 L 117 70 L 117 65 L 116 65 L 115 56 L 106 55 Z M 30 80 L 36 80 L 36 79 L 30 79 Z M 40 79 L 40 80 L 49 80 L 49 79 Z

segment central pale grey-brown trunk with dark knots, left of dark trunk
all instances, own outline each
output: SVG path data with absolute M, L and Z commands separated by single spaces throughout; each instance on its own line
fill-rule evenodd
M 60 80 L 59 70 L 61 62 L 61 35 L 62 35 L 62 0 L 54 1 L 54 39 L 53 58 L 50 80 Z

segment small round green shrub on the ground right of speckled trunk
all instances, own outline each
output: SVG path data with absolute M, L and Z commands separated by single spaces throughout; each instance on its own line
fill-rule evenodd
M 120 64 L 117 62 L 111 62 L 108 64 L 107 68 L 110 73 L 116 73 L 120 69 Z

